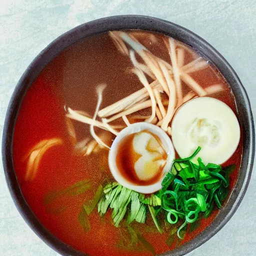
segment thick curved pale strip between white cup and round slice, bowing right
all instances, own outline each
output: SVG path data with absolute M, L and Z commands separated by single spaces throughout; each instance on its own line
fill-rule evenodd
M 169 91 L 170 91 L 170 96 L 171 96 L 171 97 L 169 97 L 167 113 L 163 117 L 162 124 L 161 124 L 161 128 L 164 131 L 167 131 L 168 124 L 169 124 L 169 122 L 170 122 L 170 120 L 173 116 L 174 108 L 175 108 L 175 105 L 176 105 L 176 88 L 175 88 L 175 83 L 172 80 L 172 78 L 170 77 L 167 68 L 164 65 L 161 65 L 161 64 L 160 64 L 160 67 L 161 67 L 163 75 L 164 75 L 164 77 L 167 81 L 168 88 L 169 88 Z

